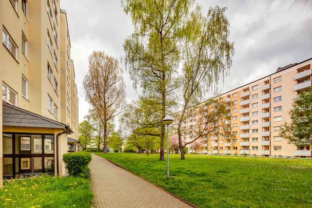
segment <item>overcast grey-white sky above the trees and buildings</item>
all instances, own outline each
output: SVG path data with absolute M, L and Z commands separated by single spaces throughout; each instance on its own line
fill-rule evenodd
M 312 1 L 198 0 L 205 11 L 218 4 L 227 7 L 230 41 L 235 56 L 230 75 L 221 92 L 239 87 L 275 72 L 278 67 L 312 57 Z M 88 70 L 88 56 L 104 50 L 115 58 L 124 55 L 123 43 L 132 25 L 119 0 L 61 0 L 66 10 L 79 96 L 79 121 L 89 105 L 82 81 Z M 124 67 L 123 67 L 124 68 Z M 138 98 L 128 72 L 124 73 L 127 101 Z

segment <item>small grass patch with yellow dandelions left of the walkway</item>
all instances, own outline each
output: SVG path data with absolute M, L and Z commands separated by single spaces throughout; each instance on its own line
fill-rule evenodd
M 0 207 L 90 207 L 88 179 L 47 175 L 4 181 Z

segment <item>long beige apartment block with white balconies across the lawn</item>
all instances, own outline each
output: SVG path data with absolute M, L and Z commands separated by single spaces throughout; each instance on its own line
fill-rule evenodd
M 204 135 L 198 142 L 197 153 L 224 155 L 255 155 L 271 157 L 311 157 L 309 144 L 297 147 L 279 136 L 280 126 L 290 122 L 288 115 L 298 94 L 311 87 L 312 58 L 290 64 L 264 78 L 220 94 L 229 112 L 224 130 Z M 216 99 L 212 98 L 212 99 Z M 184 129 L 196 125 L 191 118 Z M 186 141 L 194 136 L 184 135 Z M 189 145 L 189 153 L 195 152 Z

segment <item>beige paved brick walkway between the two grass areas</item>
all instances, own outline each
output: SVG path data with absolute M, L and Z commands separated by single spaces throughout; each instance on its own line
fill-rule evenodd
M 94 154 L 89 167 L 96 207 L 190 207 L 160 188 Z

